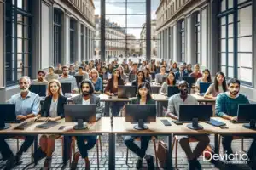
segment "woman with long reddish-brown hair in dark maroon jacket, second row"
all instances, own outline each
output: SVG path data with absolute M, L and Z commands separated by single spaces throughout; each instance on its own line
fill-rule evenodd
M 108 79 L 108 83 L 105 88 L 105 94 L 109 96 L 117 95 L 119 85 L 125 85 L 125 83 L 121 78 L 120 71 L 114 70 L 112 74 L 112 78 Z M 119 111 L 121 110 L 123 105 L 124 105 L 124 102 L 113 102 L 111 104 L 111 110 L 112 110 L 113 116 L 119 115 Z

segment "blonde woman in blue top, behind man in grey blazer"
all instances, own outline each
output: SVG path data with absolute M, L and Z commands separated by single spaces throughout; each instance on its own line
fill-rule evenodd
M 102 78 L 99 77 L 99 72 L 96 69 L 90 71 L 90 82 L 94 85 L 94 94 L 102 94 L 103 83 Z

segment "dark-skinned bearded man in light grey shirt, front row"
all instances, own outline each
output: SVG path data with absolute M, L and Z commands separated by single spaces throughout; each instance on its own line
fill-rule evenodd
M 188 94 L 188 82 L 181 81 L 178 83 L 178 88 L 180 94 L 174 94 L 168 101 L 168 109 L 166 116 L 170 116 L 172 119 L 178 120 L 179 116 L 179 106 L 180 105 L 197 105 L 197 100 Z M 188 113 L 189 114 L 189 113 Z M 189 139 L 198 140 L 198 144 L 195 150 L 192 152 Z M 193 136 L 179 136 L 179 144 L 186 153 L 189 161 L 189 170 L 201 169 L 201 164 L 197 160 L 201 153 L 206 149 L 207 145 L 210 143 L 210 139 L 207 135 L 193 135 Z

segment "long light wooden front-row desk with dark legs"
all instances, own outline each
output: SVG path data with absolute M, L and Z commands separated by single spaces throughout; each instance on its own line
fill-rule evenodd
M 79 136 L 79 135 L 100 135 L 102 133 L 107 133 L 109 136 L 108 144 L 108 166 L 109 169 L 113 170 L 115 167 L 115 135 L 150 135 L 150 136 L 167 136 L 168 142 L 168 153 L 167 153 L 167 169 L 172 169 L 172 135 L 173 134 L 182 134 L 182 135 L 198 135 L 198 134 L 214 134 L 214 144 L 215 152 L 218 153 L 218 134 L 232 134 L 232 135 L 246 135 L 253 134 L 256 135 L 256 131 L 242 127 L 242 124 L 233 124 L 227 120 L 224 120 L 219 117 L 213 117 L 221 122 L 225 122 L 228 129 L 221 129 L 219 127 L 213 127 L 205 122 L 200 122 L 204 127 L 203 130 L 191 130 L 187 126 L 187 123 L 183 125 L 176 125 L 172 123 L 172 119 L 169 117 L 157 117 L 156 122 L 148 124 L 148 130 L 135 130 L 133 124 L 125 122 L 125 117 L 113 117 L 113 123 L 111 123 L 111 117 L 102 117 L 98 122 L 95 122 L 85 130 L 73 130 L 73 126 L 76 125 L 74 122 L 64 122 L 56 125 L 55 127 L 50 127 L 49 129 L 39 129 L 36 126 L 42 124 L 40 122 L 35 122 L 31 127 L 27 127 L 26 130 L 14 130 L 14 127 L 17 124 L 11 124 L 11 127 L 6 130 L 1 130 L 0 135 L 11 134 L 11 135 L 38 135 L 38 134 L 60 134 L 63 136 Z M 165 126 L 161 120 L 167 119 L 172 123 L 172 126 Z M 65 126 L 63 130 L 58 130 L 59 127 Z M 35 141 L 34 144 L 35 150 L 38 147 L 38 141 Z M 67 144 L 64 140 L 64 148 L 67 149 Z M 64 151 L 63 161 L 67 161 L 67 151 Z

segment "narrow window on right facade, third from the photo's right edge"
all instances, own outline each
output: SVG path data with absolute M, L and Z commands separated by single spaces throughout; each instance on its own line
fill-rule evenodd
M 180 57 L 181 61 L 185 61 L 185 20 L 180 20 L 178 25 L 180 37 Z

